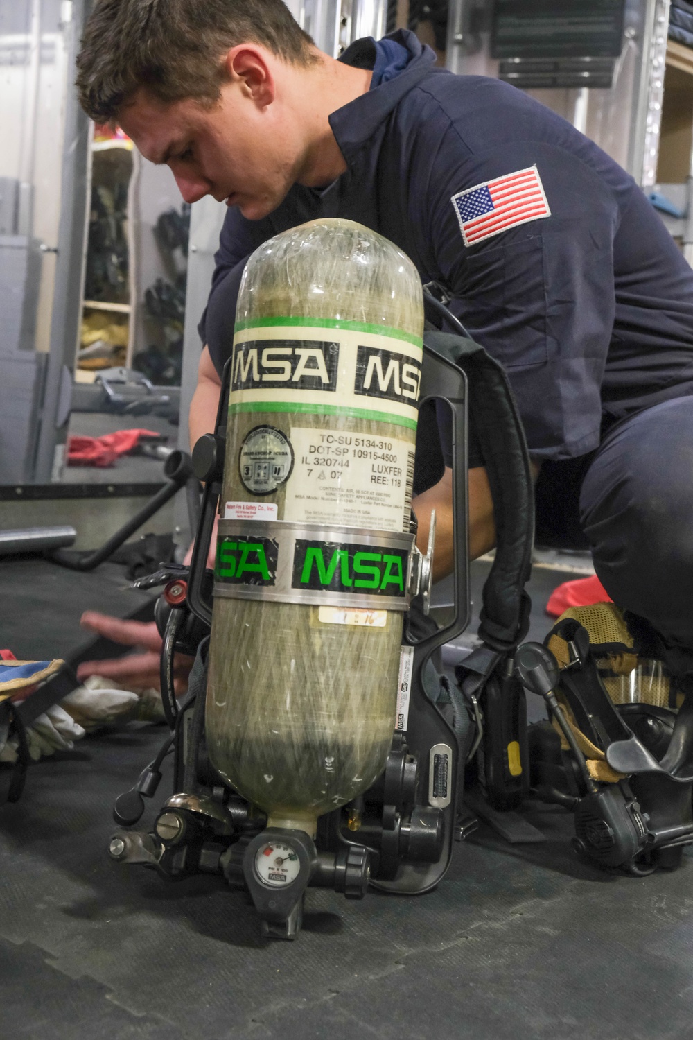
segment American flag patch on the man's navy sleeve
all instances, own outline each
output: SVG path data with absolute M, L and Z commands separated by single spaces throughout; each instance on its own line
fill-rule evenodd
M 453 196 L 451 202 L 465 245 L 476 245 L 502 231 L 551 216 L 536 166 L 467 188 Z

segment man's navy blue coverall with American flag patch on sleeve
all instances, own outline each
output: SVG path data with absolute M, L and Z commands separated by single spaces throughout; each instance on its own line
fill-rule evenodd
M 514 87 L 436 69 L 403 30 L 342 60 L 375 66 L 330 115 L 346 173 L 225 218 L 201 322 L 215 367 L 267 238 L 320 216 L 390 238 L 507 371 L 542 463 L 538 540 L 586 536 L 612 599 L 693 670 L 693 270 L 634 180 Z

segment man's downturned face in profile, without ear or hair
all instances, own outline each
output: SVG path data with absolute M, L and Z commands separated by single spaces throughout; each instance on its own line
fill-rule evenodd
M 119 123 L 146 159 L 170 167 L 186 202 L 211 194 L 250 220 L 276 209 L 300 164 L 287 121 L 237 82 L 221 87 L 212 108 L 193 99 L 164 104 L 140 90 Z

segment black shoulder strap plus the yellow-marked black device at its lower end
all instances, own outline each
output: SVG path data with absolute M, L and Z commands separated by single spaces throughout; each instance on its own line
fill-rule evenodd
M 529 628 L 525 592 L 532 568 L 534 491 L 525 434 L 502 366 L 462 335 L 454 315 L 435 301 L 443 328 L 426 332 L 426 345 L 462 369 L 469 387 L 469 419 L 488 475 L 496 522 L 496 558 L 484 584 L 477 647 L 455 668 L 468 700 L 479 699 L 483 716 L 482 759 L 477 759 L 484 799 L 496 809 L 515 808 L 528 784 L 527 712 L 524 691 L 508 673 Z

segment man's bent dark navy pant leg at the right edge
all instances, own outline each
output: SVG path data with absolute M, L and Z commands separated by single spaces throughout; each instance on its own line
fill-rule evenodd
M 607 435 L 582 486 L 580 517 L 614 602 L 645 618 L 679 667 L 693 661 L 693 397 L 657 405 Z

